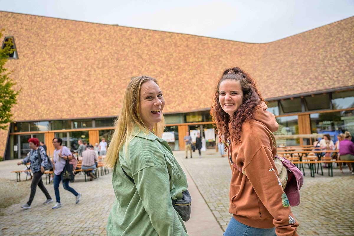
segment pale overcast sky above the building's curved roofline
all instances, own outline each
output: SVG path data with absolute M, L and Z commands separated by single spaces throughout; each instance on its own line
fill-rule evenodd
M 351 17 L 354 0 L 0 0 L 0 10 L 262 43 Z

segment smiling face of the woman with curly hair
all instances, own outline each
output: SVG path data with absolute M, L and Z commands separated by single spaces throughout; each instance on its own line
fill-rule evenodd
M 242 104 L 243 92 L 239 81 L 224 80 L 219 86 L 219 103 L 221 108 L 233 116 Z

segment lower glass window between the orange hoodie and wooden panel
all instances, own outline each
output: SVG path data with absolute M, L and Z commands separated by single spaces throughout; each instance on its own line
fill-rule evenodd
M 298 138 L 277 138 L 277 135 L 292 135 L 299 134 L 298 117 L 297 116 L 282 116 L 276 117 L 276 122 L 279 124 L 279 128 L 274 132 L 276 138 L 276 144 L 292 146 L 299 145 L 300 140 Z

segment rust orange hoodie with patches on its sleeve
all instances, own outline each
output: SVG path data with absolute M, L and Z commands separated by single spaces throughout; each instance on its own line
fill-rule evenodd
M 278 183 L 279 175 L 273 160 L 277 149 L 272 132 L 278 129 L 278 123 L 266 109 L 265 103 L 259 104 L 255 120 L 242 124 L 241 143 L 232 141 L 229 155 L 245 174 L 230 163 L 229 212 L 242 224 L 254 228 L 275 226 L 277 236 L 298 236 L 299 224 L 291 212 L 281 183 Z

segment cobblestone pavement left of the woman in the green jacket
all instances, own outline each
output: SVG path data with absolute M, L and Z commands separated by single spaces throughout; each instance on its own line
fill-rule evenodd
M 16 162 L 17 160 L 0 162 L 1 178 L 7 177 L 16 183 L 15 173 L 9 172 L 24 168 L 17 167 Z M 75 196 L 64 190 L 60 184 L 62 207 L 56 210 L 52 209 L 55 204 L 53 184 L 45 185 L 54 199 L 53 203 L 43 205 L 45 196 L 37 188 L 32 208 L 20 208 L 28 201 L 30 192 L 31 181 L 25 181 L 28 192 L 21 203 L 2 211 L 4 214 L 0 216 L 0 235 L 106 235 L 107 218 L 115 199 L 111 173 L 90 182 L 85 182 L 84 175 L 76 175 L 75 182 L 70 183 L 70 186 L 82 194 L 78 204 L 75 204 Z M 45 178 L 42 177 L 42 180 L 45 181 Z

